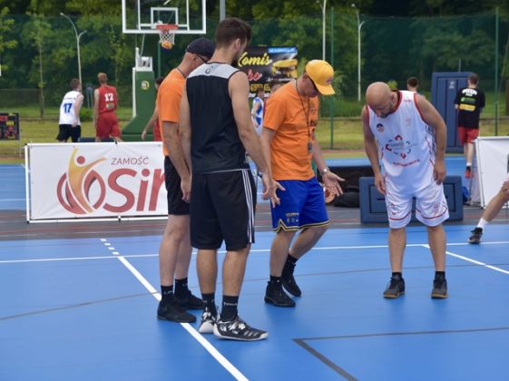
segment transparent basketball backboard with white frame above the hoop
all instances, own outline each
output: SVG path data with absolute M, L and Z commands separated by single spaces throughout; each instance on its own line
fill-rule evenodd
M 158 34 L 156 24 L 176 24 L 175 34 L 206 34 L 206 0 L 122 0 L 122 32 Z

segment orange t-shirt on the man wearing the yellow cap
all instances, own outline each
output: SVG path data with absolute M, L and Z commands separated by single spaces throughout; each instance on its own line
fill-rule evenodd
M 299 96 L 295 82 L 285 84 L 270 95 L 263 127 L 276 132 L 270 146 L 270 162 L 274 180 L 309 180 L 312 152 L 318 124 L 318 97 Z

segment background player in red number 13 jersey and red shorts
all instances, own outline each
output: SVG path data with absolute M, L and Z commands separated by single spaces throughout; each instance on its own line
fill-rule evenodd
M 108 76 L 105 73 L 97 74 L 101 84 L 93 91 L 93 125 L 95 126 L 95 142 L 103 142 L 103 139 L 114 139 L 122 142 L 119 121 L 116 109 L 118 107 L 117 91 L 108 84 Z

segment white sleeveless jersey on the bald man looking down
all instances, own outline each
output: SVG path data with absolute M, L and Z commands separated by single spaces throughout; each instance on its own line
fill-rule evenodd
M 378 142 L 386 174 L 402 194 L 423 190 L 433 181 L 436 140 L 416 105 L 416 93 L 398 91 L 396 110 L 385 118 L 369 112 L 369 128 Z

